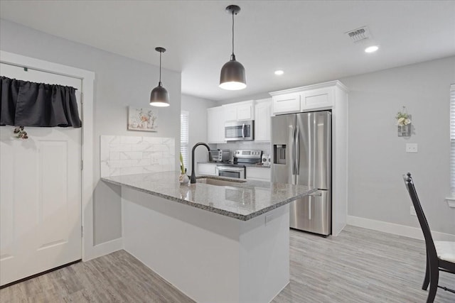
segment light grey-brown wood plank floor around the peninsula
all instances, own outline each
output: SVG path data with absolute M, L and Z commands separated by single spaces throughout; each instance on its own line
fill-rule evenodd
M 291 282 L 273 302 L 426 302 L 423 241 L 347 226 L 338 237 L 291 230 Z M 441 272 L 440 285 L 455 288 Z M 124 250 L 0 290 L 0 302 L 193 302 Z M 438 290 L 435 302 L 455 302 Z M 214 302 L 215 303 L 215 302 Z

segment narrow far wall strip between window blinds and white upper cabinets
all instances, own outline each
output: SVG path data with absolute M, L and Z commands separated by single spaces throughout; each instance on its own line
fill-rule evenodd
M 182 111 L 189 112 L 189 138 L 188 138 L 188 167 L 186 172 L 191 174 L 191 148 L 198 142 L 207 142 L 207 109 L 216 106 L 215 101 L 182 94 Z M 216 148 L 215 145 L 212 145 Z M 194 162 L 208 161 L 207 150 L 201 146 L 196 148 Z M 180 166 L 178 166 L 180 167 Z

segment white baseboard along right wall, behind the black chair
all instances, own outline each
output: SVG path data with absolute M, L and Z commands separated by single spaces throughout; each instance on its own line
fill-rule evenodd
M 422 229 L 420 228 L 360 218 L 358 216 L 348 216 L 348 225 L 373 229 L 375 231 L 382 231 L 385 233 L 393 233 L 394 235 L 406 236 L 419 240 L 424 239 Z M 432 231 L 432 236 L 434 241 L 455 241 L 455 235 L 450 233 Z

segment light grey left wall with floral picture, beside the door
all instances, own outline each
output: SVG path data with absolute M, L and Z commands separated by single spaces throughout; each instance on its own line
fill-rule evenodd
M 166 45 L 164 45 L 166 46 Z M 181 74 L 163 70 L 162 82 L 171 106 L 159 109 L 157 133 L 127 131 L 127 106 L 148 107 L 158 84 L 159 67 L 97 48 L 58 38 L 0 20 L 0 48 L 10 53 L 95 72 L 94 98 L 94 242 L 122 236 L 119 189 L 100 182 L 100 136 L 159 136 L 176 138 L 180 150 Z M 158 53 L 151 55 L 158 55 Z M 163 57 L 166 65 L 166 55 Z M 178 162 L 176 158 L 176 167 Z M 87 231 L 86 231 L 87 232 Z

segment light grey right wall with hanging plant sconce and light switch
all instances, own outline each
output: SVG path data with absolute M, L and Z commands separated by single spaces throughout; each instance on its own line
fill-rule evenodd
M 419 227 L 410 215 L 402 174 L 411 172 L 433 231 L 455 234 L 449 197 L 449 89 L 455 57 L 340 79 L 349 89 L 348 214 Z M 395 115 L 412 114 L 410 138 L 397 136 Z M 405 153 L 417 143 L 418 153 Z

